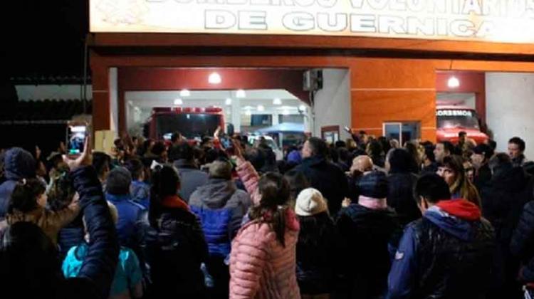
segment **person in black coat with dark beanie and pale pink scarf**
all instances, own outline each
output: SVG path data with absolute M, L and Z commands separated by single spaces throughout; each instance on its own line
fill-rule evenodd
M 347 253 L 342 259 L 346 278 L 341 298 L 377 298 L 387 286 L 389 246 L 402 233 L 397 216 L 387 206 L 388 183 L 383 172 L 364 174 L 358 182 L 360 196 L 341 209 L 336 221 Z

